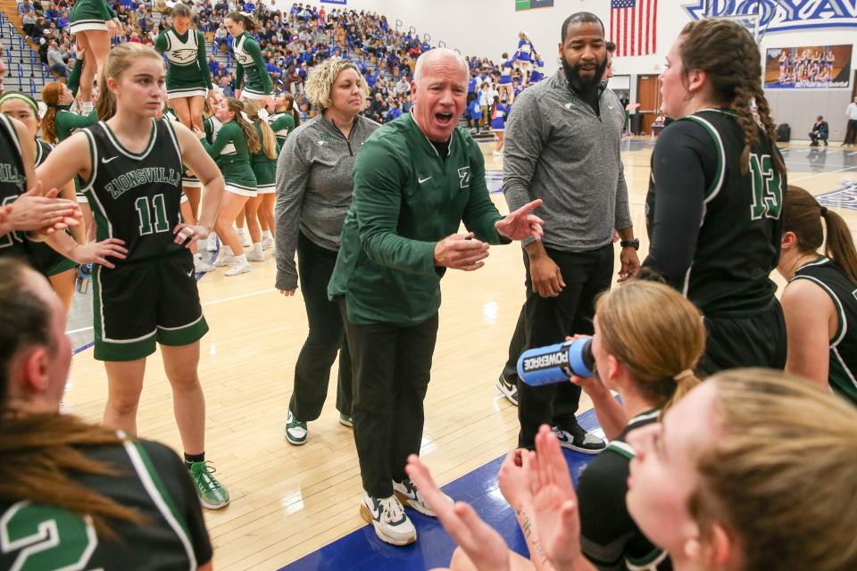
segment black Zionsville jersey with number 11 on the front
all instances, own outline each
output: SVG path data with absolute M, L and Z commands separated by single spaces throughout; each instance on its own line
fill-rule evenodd
M 104 121 L 86 128 L 92 171 L 84 181 L 98 240 L 120 238 L 128 248 L 119 266 L 180 252 L 172 229 L 181 214 L 181 153 L 169 120 L 153 119 L 142 153 L 122 146 Z

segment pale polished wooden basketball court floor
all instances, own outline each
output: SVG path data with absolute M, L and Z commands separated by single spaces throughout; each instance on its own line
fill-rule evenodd
M 642 260 L 653 140 L 636 137 L 624 145 Z M 491 154 L 493 144 L 480 146 L 489 188 L 496 190 L 501 161 Z M 801 143 L 784 149 L 789 183 L 813 194 L 838 191 L 824 203 L 857 228 L 855 149 L 838 144 L 811 149 Z M 502 194 L 492 197 L 506 211 Z M 321 418 L 310 423 L 308 442 L 295 447 L 283 436 L 306 317 L 299 295 L 286 298 L 273 289 L 275 261 L 270 251 L 266 255 L 268 260 L 254 263 L 249 274 L 224 277 L 218 269 L 199 282 L 211 326 L 202 341 L 199 367 L 207 401 L 206 456 L 232 496 L 228 508 L 205 514 L 219 570 L 278 569 L 364 525 L 357 510 L 362 489 L 352 431 L 338 424 L 334 408 L 336 365 L 328 403 Z M 517 441 L 516 410 L 497 392 L 495 379 L 523 301 L 523 279 L 520 247 L 512 244 L 492 246 L 484 268 L 449 271 L 443 280 L 421 452 L 438 484 L 496 459 Z M 778 275 L 774 279 L 782 285 Z M 92 339 L 90 295 L 76 295 L 68 328 L 79 352 L 64 402 L 73 413 L 97 422 L 104 411 L 106 376 L 103 364 L 87 349 Z M 590 406 L 584 395 L 580 410 Z M 148 363 L 139 435 L 181 451 L 159 355 Z

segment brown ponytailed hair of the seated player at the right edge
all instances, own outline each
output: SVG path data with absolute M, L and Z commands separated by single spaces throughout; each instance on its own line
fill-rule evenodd
M 827 241 L 821 220 L 827 226 Z M 783 199 L 783 232 L 797 236 L 799 252 L 818 252 L 824 244 L 824 253 L 854 285 L 857 285 L 857 251 L 851 230 L 845 220 L 834 211 L 821 206 L 815 197 L 800 186 L 789 185 Z

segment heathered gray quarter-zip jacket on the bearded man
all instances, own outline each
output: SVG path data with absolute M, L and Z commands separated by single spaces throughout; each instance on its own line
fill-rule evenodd
M 516 97 L 506 122 L 503 194 L 510 211 L 544 201 L 534 213 L 548 248 L 595 250 L 611 243 L 613 228 L 632 226 L 620 157 L 625 111 L 609 89 L 599 106 L 600 118 L 559 70 Z

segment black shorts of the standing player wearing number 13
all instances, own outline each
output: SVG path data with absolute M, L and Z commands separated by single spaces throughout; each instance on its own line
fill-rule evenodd
M 786 318 L 774 298 L 770 306 L 747 317 L 705 316 L 703 375 L 727 368 L 786 368 Z

